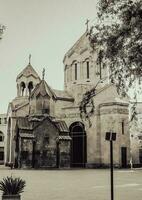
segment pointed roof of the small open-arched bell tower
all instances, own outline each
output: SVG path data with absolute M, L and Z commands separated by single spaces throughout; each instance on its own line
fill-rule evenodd
M 29 63 L 25 69 L 17 76 L 17 79 L 19 79 L 21 76 L 29 77 L 34 76 L 35 78 L 39 78 L 37 72 L 34 70 L 32 65 Z

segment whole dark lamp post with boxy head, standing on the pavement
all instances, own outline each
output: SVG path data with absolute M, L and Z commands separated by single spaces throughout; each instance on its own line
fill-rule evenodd
M 107 141 L 110 141 L 110 181 L 111 181 L 111 200 L 114 200 L 114 184 L 113 184 L 113 141 L 116 140 L 116 133 L 112 131 L 106 132 Z

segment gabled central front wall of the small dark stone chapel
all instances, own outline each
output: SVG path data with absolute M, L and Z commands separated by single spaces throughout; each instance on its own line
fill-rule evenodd
M 57 167 L 57 137 L 59 131 L 45 119 L 34 129 L 37 167 Z

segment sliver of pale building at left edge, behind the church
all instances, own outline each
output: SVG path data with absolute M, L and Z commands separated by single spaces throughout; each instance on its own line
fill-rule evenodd
M 0 114 L 0 164 L 4 164 L 7 136 L 7 117 L 6 114 Z

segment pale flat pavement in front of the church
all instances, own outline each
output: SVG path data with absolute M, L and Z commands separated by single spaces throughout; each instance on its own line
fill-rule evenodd
M 109 170 L 10 170 L 26 180 L 22 200 L 110 200 Z M 115 200 L 142 199 L 142 170 L 115 170 Z

